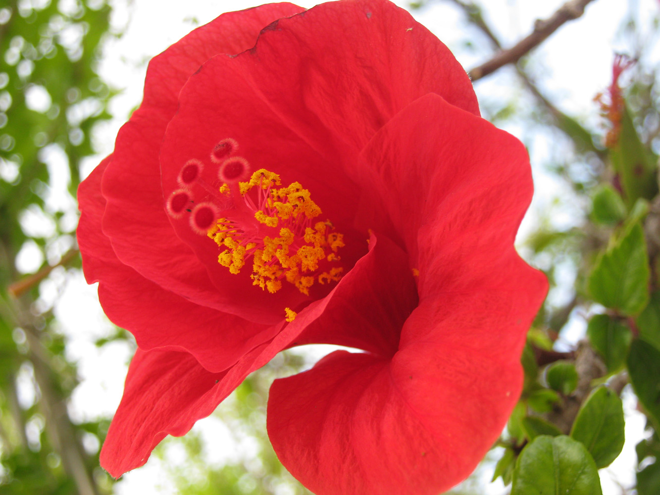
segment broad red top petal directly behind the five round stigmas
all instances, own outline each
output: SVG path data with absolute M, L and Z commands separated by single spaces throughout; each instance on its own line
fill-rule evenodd
M 214 57 L 189 79 L 161 151 L 163 189 L 178 187 L 187 160 L 207 160 L 229 137 L 253 169 L 299 181 L 323 215 L 347 228 L 360 190 L 346 171 L 382 125 L 428 92 L 479 112 L 465 71 L 409 13 L 378 0 L 319 5 L 269 26 L 254 49 Z M 203 257 L 201 240 L 185 222 L 173 223 Z

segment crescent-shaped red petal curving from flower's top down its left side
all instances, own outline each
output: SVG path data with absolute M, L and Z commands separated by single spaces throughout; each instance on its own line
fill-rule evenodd
M 226 13 L 154 57 L 147 71 L 145 100 L 117 136 L 112 165 L 102 183 L 108 201 L 104 233 L 123 263 L 198 304 L 227 310 L 243 294 L 219 291 L 170 226 L 158 163 L 166 125 L 176 113 L 180 89 L 202 63 L 218 53 L 251 48 L 264 26 L 302 10 L 281 3 Z M 277 321 L 272 312 L 265 313 L 244 311 L 242 316 L 261 323 Z

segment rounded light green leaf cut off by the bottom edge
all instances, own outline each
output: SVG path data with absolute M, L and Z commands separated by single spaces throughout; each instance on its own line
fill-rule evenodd
M 539 436 L 515 464 L 511 495 L 603 495 L 596 464 L 566 435 Z

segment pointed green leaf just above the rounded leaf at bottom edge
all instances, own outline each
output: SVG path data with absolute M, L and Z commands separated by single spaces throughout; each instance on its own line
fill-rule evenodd
M 571 436 L 582 442 L 597 467 L 609 466 L 623 448 L 623 405 L 611 389 L 599 387 L 587 397 L 573 423 Z

